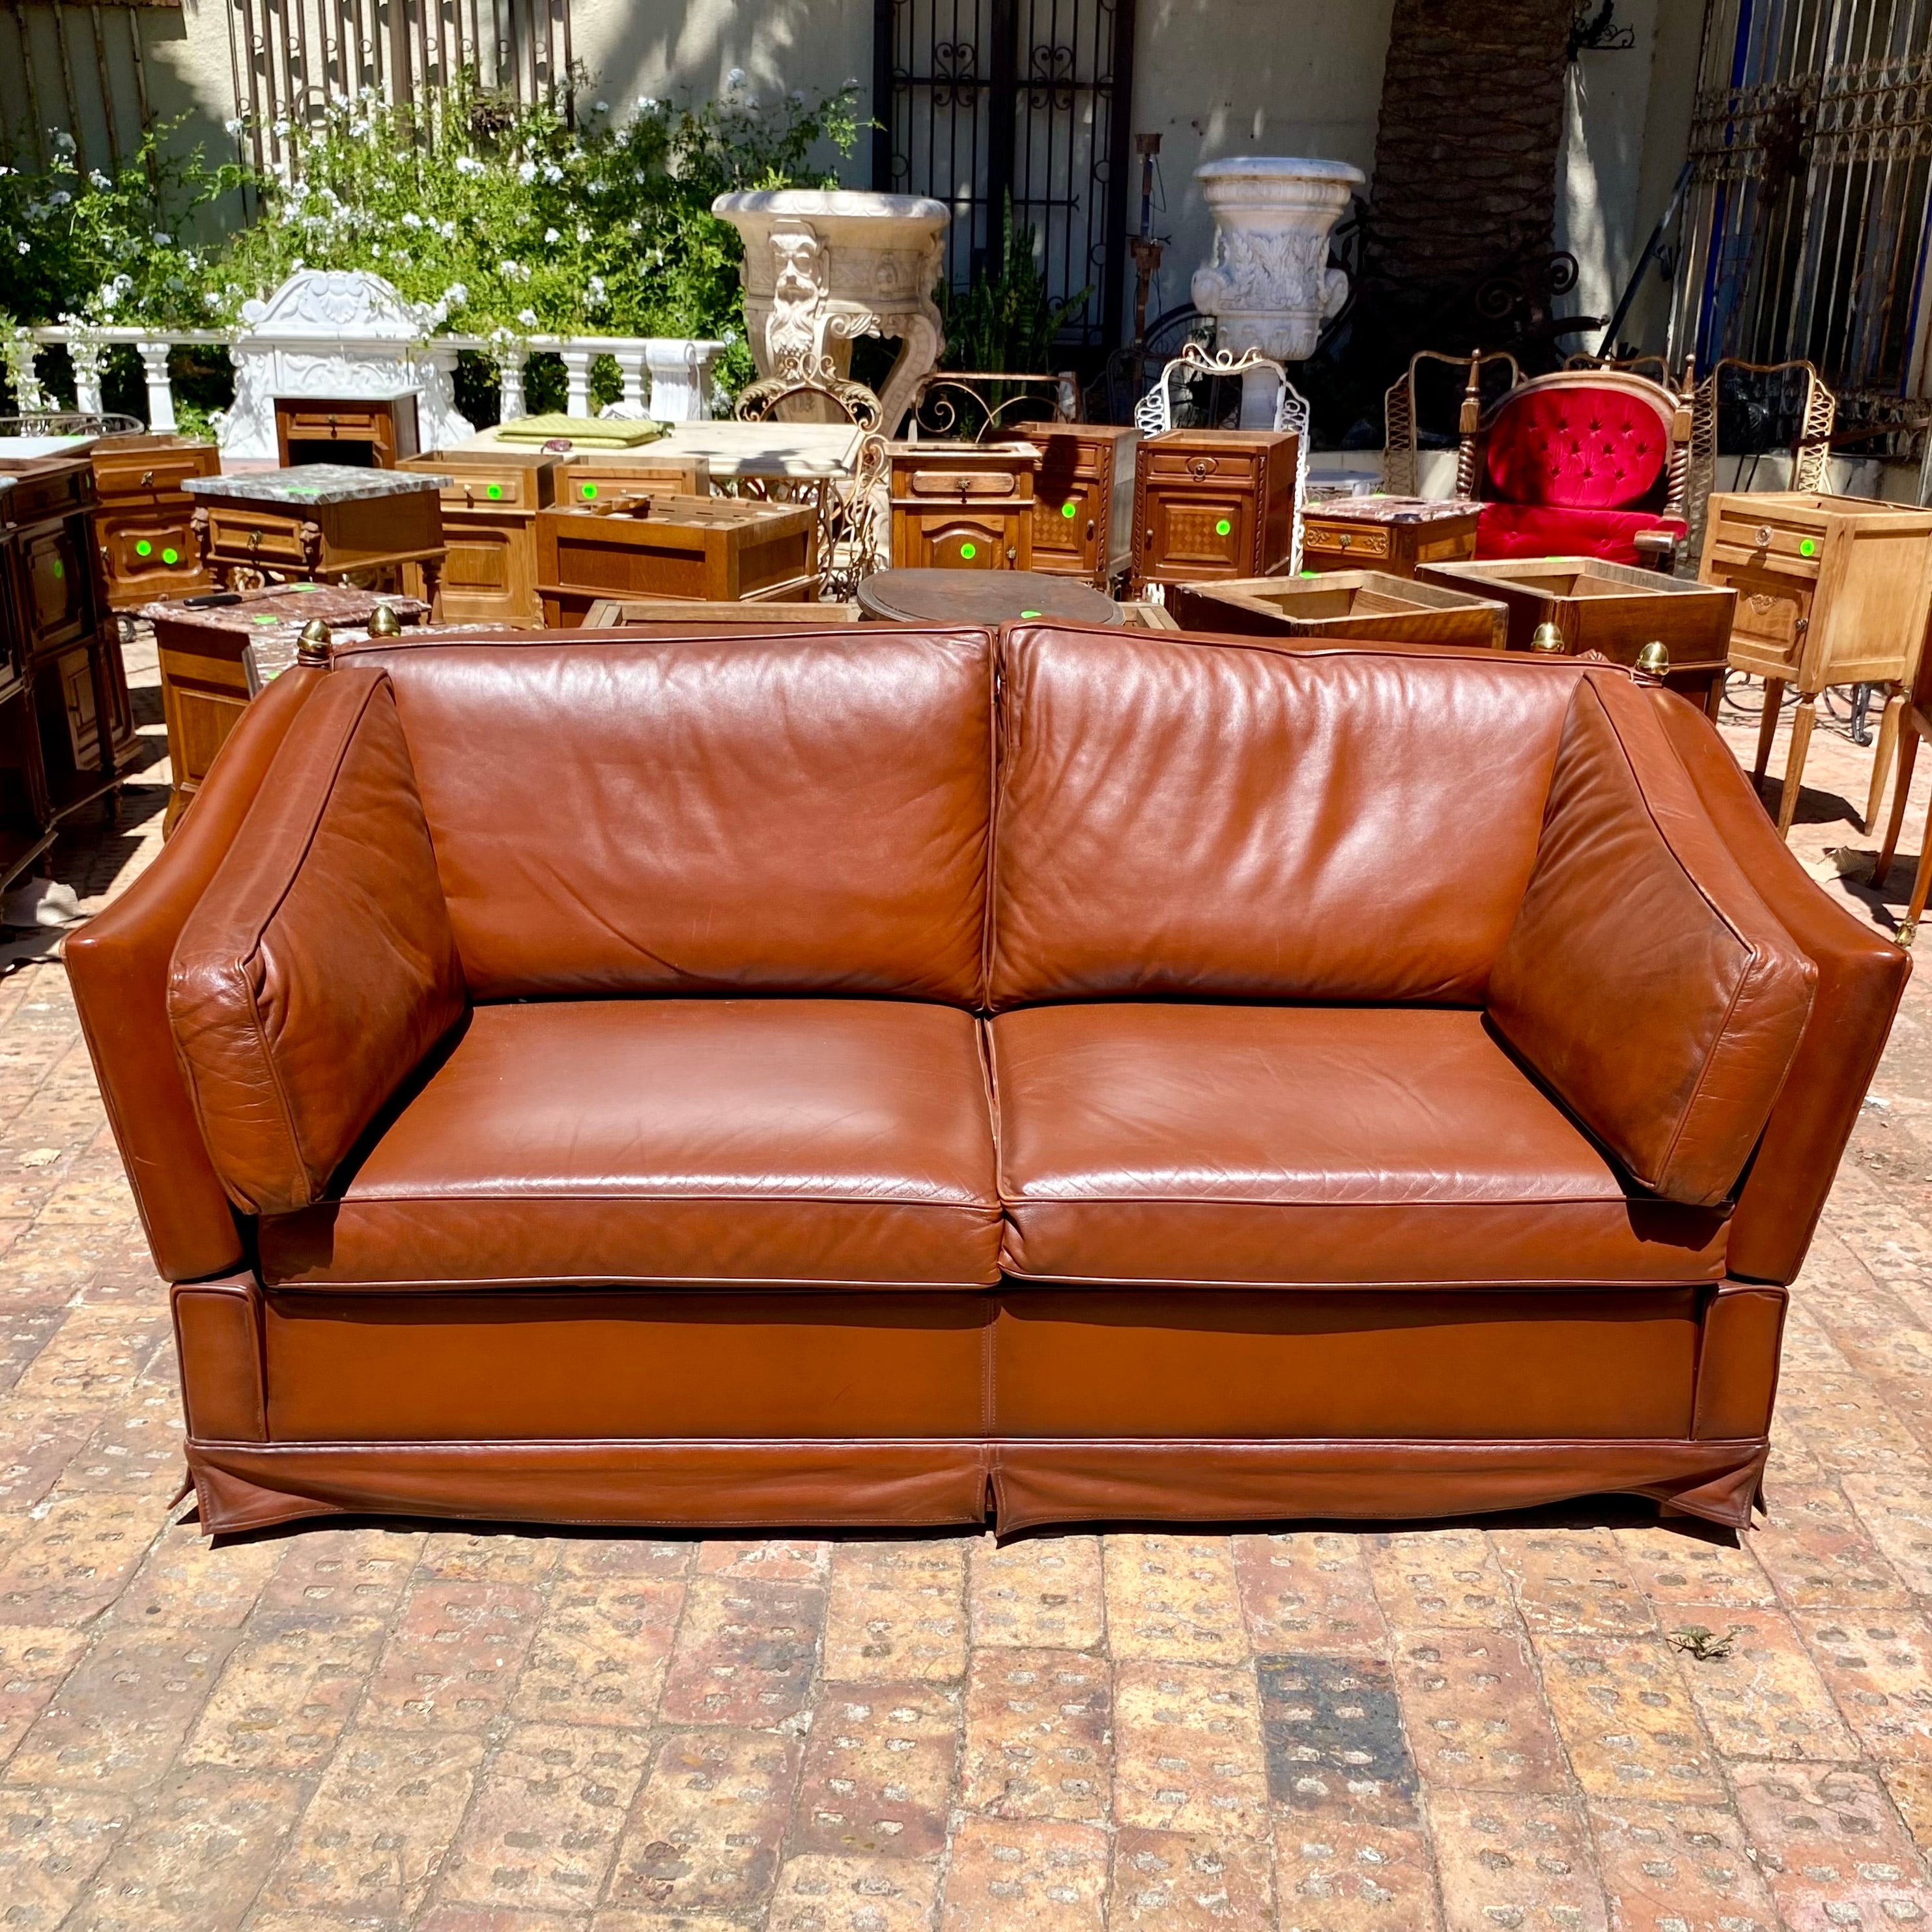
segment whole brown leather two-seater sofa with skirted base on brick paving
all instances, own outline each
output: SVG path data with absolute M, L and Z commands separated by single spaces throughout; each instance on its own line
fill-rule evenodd
M 1623 670 L 390 639 L 68 943 L 211 1530 L 1745 1520 L 1907 960 Z

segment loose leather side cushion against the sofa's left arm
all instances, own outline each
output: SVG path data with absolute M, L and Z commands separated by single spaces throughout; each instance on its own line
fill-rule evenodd
M 245 1213 L 321 1200 L 462 1018 L 429 825 L 383 670 L 332 670 L 174 949 L 168 1020 Z

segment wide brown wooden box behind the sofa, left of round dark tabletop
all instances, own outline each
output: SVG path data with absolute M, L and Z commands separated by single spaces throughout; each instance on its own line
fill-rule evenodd
M 551 630 L 599 599 L 802 603 L 817 589 L 817 514 L 734 497 L 636 497 L 537 512 L 537 587 Z

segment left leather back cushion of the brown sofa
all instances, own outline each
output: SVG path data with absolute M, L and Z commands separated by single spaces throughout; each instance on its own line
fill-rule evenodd
M 394 645 L 475 999 L 976 1005 L 983 632 Z

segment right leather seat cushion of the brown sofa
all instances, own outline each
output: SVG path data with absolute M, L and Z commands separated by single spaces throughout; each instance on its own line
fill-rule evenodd
M 1032 1007 L 991 1022 L 1010 1275 L 1273 1287 L 1723 1275 L 1480 1012 Z

